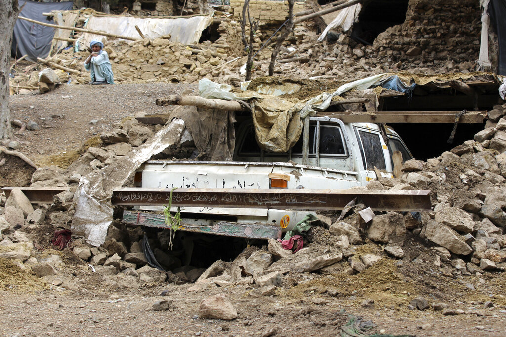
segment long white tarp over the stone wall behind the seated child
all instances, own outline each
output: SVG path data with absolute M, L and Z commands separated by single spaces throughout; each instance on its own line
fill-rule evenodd
M 171 34 L 171 41 L 188 45 L 198 43 L 202 30 L 212 21 L 213 18 L 210 16 L 176 19 L 91 16 L 85 28 L 140 39 L 141 36 L 135 28 L 135 26 L 139 26 L 146 38 L 154 39 L 165 34 Z M 111 38 L 109 37 L 109 39 Z M 79 39 L 79 50 L 85 50 L 93 40 L 105 42 L 107 37 L 83 33 Z

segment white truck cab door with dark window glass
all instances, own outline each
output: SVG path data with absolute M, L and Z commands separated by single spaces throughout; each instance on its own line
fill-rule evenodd
M 392 165 L 386 158 L 390 158 L 388 147 L 379 131 L 355 127 L 355 133 L 359 142 L 360 154 L 366 176 L 361 180 L 367 183 L 376 178 L 374 167 L 382 171 L 382 176 L 391 176 L 387 172 L 392 172 Z

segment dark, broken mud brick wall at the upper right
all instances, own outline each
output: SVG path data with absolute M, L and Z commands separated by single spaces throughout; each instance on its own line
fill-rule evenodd
M 374 47 L 394 62 L 474 63 L 480 32 L 479 0 L 410 0 L 406 21 L 379 34 Z

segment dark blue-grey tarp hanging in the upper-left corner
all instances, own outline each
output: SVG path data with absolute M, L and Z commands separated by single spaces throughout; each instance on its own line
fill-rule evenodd
M 70 10 L 72 2 L 64 3 L 37 3 L 19 0 L 19 7 L 23 7 L 19 16 L 36 21 L 53 23 L 43 13 Z M 27 55 L 29 61 L 37 61 L 37 57 L 45 59 L 51 51 L 51 41 L 55 34 L 55 28 L 38 25 L 25 20 L 16 20 L 12 39 L 12 55 L 20 58 Z

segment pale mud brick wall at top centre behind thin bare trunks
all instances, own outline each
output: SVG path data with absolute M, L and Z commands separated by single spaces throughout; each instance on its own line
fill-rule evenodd
M 239 18 L 242 15 L 242 6 L 244 0 L 230 0 L 231 12 L 234 13 L 234 18 Z M 293 5 L 293 14 L 305 11 L 303 4 Z M 288 3 L 286 1 L 250 1 L 249 2 L 249 15 L 252 18 L 260 19 L 262 21 L 285 21 L 288 17 Z

